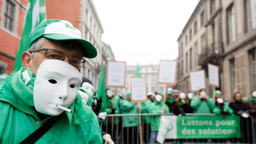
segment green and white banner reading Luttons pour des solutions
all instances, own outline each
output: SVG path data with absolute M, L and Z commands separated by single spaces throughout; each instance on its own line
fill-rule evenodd
M 241 138 L 240 117 L 162 115 L 157 134 L 159 143 L 165 139 L 218 138 Z

